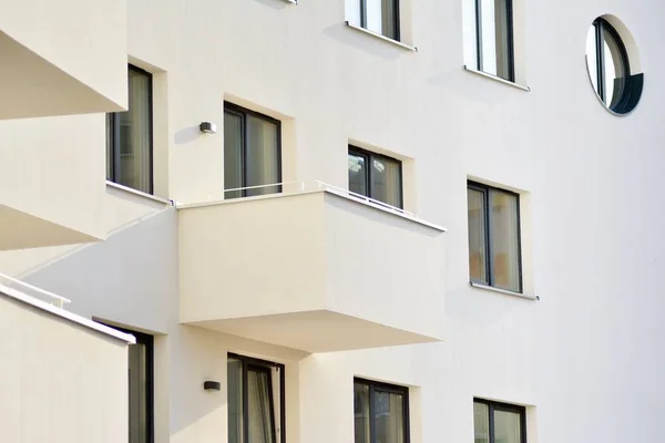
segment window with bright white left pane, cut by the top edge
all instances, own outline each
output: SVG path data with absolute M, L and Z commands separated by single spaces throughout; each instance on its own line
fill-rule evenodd
M 475 0 L 478 70 L 515 81 L 512 0 Z

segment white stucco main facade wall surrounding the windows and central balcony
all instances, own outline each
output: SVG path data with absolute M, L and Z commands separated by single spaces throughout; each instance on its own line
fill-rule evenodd
M 157 194 L 219 194 L 229 100 L 283 121 L 285 179 L 346 187 L 354 141 L 402 159 L 406 207 L 449 229 L 447 341 L 405 348 L 308 357 L 178 326 L 172 209 L 30 275 L 74 310 L 157 333 L 157 442 L 225 441 L 224 390 L 201 385 L 225 380 L 227 349 L 288 363 L 289 443 L 352 439 L 352 375 L 413 387 L 413 443 L 472 441 L 473 396 L 530 405 L 530 443 L 659 439 L 665 4 L 520 3 L 528 93 L 462 70 L 461 2 L 411 3 L 418 52 L 346 27 L 342 0 L 130 1 L 129 55 L 163 104 Z M 640 48 L 646 86 L 627 117 L 589 84 L 585 35 L 604 13 Z M 217 134 L 200 135 L 202 121 Z M 469 177 L 522 193 L 524 284 L 540 301 L 469 287 Z

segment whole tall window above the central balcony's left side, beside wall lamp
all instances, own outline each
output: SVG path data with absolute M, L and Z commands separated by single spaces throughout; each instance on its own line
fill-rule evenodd
M 224 103 L 224 198 L 282 192 L 282 125 L 267 115 Z

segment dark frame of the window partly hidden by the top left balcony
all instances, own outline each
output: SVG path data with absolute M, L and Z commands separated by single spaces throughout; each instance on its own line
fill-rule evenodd
M 134 66 L 133 64 L 127 65 L 127 76 L 129 71 L 134 71 L 140 74 L 144 74 L 147 78 L 147 102 L 149 102 L 149 137 L 150 137 L 150 155 L 149 155 L 149 179 L 150 179 L 150 189 L 149 194 L 154 194 L 154 103 L 153 103 L 153 74 L 141 69 Z M 127 85 L 129 91 L 129 85 Z M 119 182 L 121 177 L 121 156 L 122 156 L 122 146 L 121 146 L 121 136 L 120 136 L 120 119 L 117 119 L 116 112 L 109 113 L 109 124 L 111 125 L 110 132 L 110 142 L 111 142 L 111 177 L 108 177 L 110 182 L 116 183 L 119 185 L 125 186 Z

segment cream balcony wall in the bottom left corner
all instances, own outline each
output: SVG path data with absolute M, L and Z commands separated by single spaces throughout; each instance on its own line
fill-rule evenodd
M 0 295 L 0 441 L 127 441 L 127 342 Z

